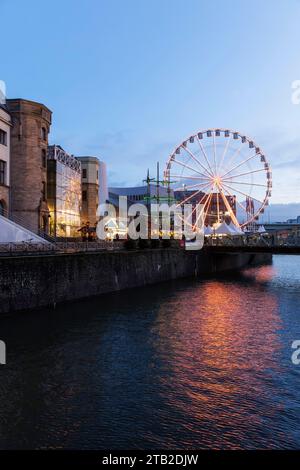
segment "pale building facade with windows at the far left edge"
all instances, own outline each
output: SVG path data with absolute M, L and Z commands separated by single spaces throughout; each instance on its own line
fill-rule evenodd
M 11 116 L 0 104 L 0 215 L 8 215 L 10 200 L 10 130 Z

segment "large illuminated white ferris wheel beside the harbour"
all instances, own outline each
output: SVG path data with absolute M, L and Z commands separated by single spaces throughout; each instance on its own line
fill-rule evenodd
M 170 155 L 164 172 L 178 204 L 203 204 L 205 223 L 226 219 L 245 228 L 269 205 L 272 173 L 261 148 L 229 129 L 191 135 Z

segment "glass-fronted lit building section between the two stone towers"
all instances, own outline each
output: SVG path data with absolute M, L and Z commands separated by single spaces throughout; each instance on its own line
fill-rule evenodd
M 59 145 L 50 145 L 47 154 L 47 179 L 50 235 L 80 236 L 81 163 Z

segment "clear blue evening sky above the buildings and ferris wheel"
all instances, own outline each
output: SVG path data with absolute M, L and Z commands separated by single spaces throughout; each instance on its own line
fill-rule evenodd
M 300 202 L 299 0 L 0 0 L 8 97 L 53 111 L 51 142 L 140 184 L 192 132 L 252 136 L 273 202 Z

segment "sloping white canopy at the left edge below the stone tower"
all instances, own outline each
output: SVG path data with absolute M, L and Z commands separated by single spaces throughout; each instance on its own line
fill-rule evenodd
M 43 243 L 49 245 L 47 240 L 39 237 L 30 230 L 27 230 L 21 225 L 12 222 L 12 220 L 7 219 L 0 215 L 0 243 Z

